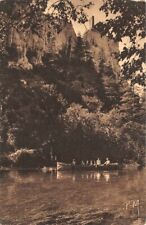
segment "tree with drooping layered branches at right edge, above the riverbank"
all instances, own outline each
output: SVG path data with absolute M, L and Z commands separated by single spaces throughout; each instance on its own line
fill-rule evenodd
M 113 133 L 117 136 L 118 148 L 123 157 L 143 163 L 146 118 L 144 103 L 140 102 L 139 96 L 123 79 L 120 82 L 120 94 L 117 112 L 112 115 L 115 120 L 112 123 Z

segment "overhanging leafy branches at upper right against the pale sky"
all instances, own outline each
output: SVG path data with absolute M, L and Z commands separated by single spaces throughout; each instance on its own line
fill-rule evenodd
M 123 47 L 119 56 L 123 61 L 122 73 L 133 84 L 144 85 L 145 2 L 106 0 L 100 10 L 105 12 L 107 20 L 97 23 L 96 29 L 115 41 L 128 37 L 129 44 Z M 114 18 L 108 18 L 110 13 L 115 15 Z

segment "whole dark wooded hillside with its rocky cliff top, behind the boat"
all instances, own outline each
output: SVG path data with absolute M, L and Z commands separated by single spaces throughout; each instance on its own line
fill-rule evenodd
M 95 29 L 76 36 L 69 22 L 56 31 L 44 14 L 27 27 L 23 6 L 12 4 L 1 58 L 1 165 L 27 167 L 29 157 L 29 166 L 52 157 L 143 164 L 145 101 L 120 75 L 118 44 Z

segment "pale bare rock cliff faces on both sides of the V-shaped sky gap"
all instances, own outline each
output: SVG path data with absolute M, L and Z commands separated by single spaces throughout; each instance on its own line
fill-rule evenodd
M 27 7 L 25 2 L 15 4 L 12 16 L 16 16 L 17 14 L 25 15 Z M 25 27 L 25 19 L 22 17 L 20 20 L 20 23 Z M 62 27 L 62 25 L 60 26 Z M 9 29 L 7 43 L 10 53 L 9 67 L 32 69 L 33 66 L 43 64 L 42 59 L 46 53 L 58 54 L 62 49 L 65 50 L 68 58 L 71 57 L 77 39 L 71 23 L 64 25 L 58 33 L 50 26 L 49 21 L 44 16 L 35 30 L 31 26 L 28 26 L 26 29 L 20 28 L 19 21 L 17 21 L 17 25 L 14 23 Z M 120 69 L 116 59 L 119 51 L 117 43 L 105 36 L 101 36 L 94 27 L 86 32 L 84 39 L 89 43 L 97 71 L 99 71 L 99 63 L 103 59 L 106 65 L 111 66 L 115 73 L 119 72 Z

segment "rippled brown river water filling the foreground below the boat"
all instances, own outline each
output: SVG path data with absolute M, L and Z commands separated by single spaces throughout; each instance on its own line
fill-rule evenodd
M 0 224 L 111 224 L 102 223 L 102 212 L 105 217 L 110 216 L 107 212 L 122 213 L 127 221 L 130 216 L 140 217 L 145 224 L 145 185 L 146 170 L 57 175 L 3 172 Z

